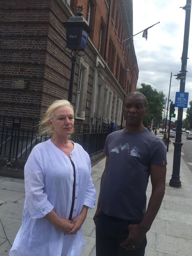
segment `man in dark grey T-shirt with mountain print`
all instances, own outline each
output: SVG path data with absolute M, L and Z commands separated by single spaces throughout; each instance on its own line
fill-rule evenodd
M 166 150 L 142 124 L 147 100 L 131 92 L 124 100 L 126 128 L 107 136 L 106 165 L 94 215 L 97 256 L 144 256 L 146 233 L 165 193 Z M 146 189 L 152 194 L 146 211 Z

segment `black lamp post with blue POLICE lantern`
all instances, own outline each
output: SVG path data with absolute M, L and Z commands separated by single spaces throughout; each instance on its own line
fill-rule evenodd
M 73 82 L 75 75 L 75 63 L 77 56 L 83 56 L 85 54 L 79 54 L 79 52 L 85 52 L 85 46 L 87 43 L 88 35 L 92 29 L 88 26 L 87 21 L 83 16 L 83 6 L 77 6 L 77 12 L 75 16 L 69 18 L 67 22 L 63 22 L 66 27 L 66 48 L 69 48 L 71 52 L 71 76 L 69 84 L 68 101 L 72 103 L 73 94 Z

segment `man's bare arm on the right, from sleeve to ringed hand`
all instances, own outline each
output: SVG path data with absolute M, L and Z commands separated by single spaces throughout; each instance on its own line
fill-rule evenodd
M 126 250 L 135 250 L 144 239 L 146 233 L 158 213 L 165 194 L 166 165 L 151 165 L 152 193 L 147 212 L 139 225 L 129 225 L 129 236 L 121 244 Z

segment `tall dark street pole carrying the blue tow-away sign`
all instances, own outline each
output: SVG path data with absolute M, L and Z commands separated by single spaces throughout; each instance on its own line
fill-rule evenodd
M 180 80 L 180 92 L 185 91 L 185 80 L 186 80 L 186 71 L 187 71 L 187 53 L 189 45 L 189 28 L 190 28 L 190 14 L 191 14 L 191 0 L 187 0 L 186 5 L 183 7 L 186 11 L 185 13 L 185 30 L 184 30 L 184 39 L 183 39 L 183 53 L 182 53 L 182 65 L 181 65 L 181 80 Z M 183 108 L 178 108 L 177 116 L 177 129 L 176 129 L 176 138 L 174 144 L 174 156 L 173 156 L 173 171 L 172 178 L 169 182 L 169 185 L 172 187 L 181 187 L 180 181 L 180 162 L 181 162 L 181 143 L 182 137 L 182 121 L 183 121 Z

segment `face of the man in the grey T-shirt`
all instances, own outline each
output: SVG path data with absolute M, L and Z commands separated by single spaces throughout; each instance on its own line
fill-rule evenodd
M 126 124 L 130 126 L 139 126 L 143 117 L 147 113 L 144 99 L 138 96 L 130 96 L 125 99 L 123 106 L 123 116 Z

